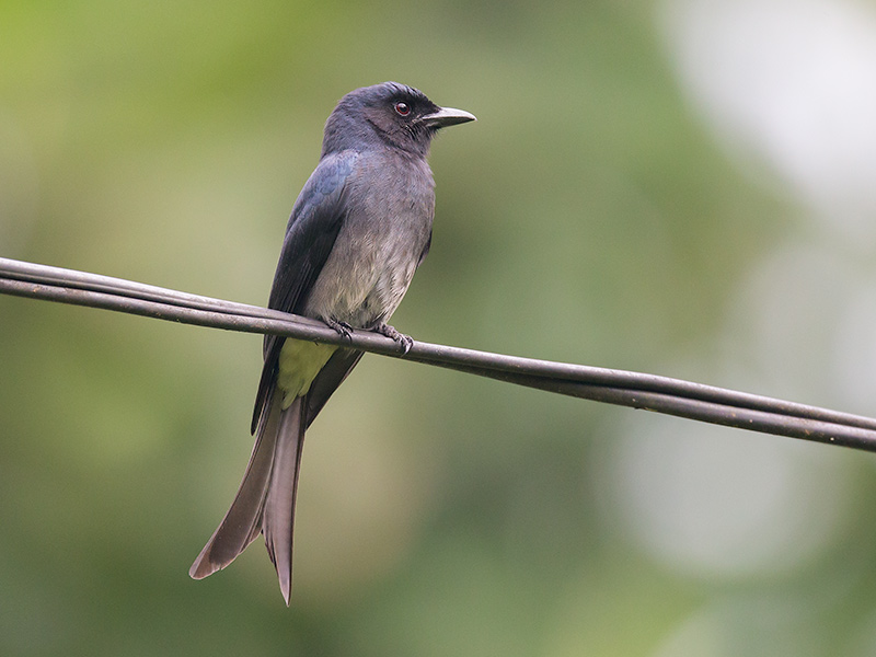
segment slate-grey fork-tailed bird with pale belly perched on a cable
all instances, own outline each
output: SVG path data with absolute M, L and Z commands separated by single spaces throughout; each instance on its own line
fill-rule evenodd
M 320 320 L 344 336 L 374 331 L 407 353 L 413 341 L 388 322 L 431 242 L 429 146 L 439 129 L 472 120 L 397 82 L 344 95 L 292 207 L 268 308 Z M 228 566 L 262 533 L 289 606 L 304 431 L 361 356 L 346 346 L 265 336 L 255 445 L 231 507 L 189 569 L 194 579 Z

